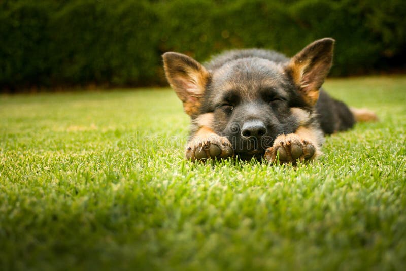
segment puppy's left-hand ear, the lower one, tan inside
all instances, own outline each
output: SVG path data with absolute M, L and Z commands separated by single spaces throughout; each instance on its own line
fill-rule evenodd
M 186 114 L 191 117 L 198 115 L 210 73 L 187 55 L 167 52 L 162 57 L 166 78 L 183 101 Z

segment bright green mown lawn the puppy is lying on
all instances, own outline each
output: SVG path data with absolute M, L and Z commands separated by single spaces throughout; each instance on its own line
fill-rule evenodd
M 183 160 L 168 89 L 0 96 L 0 269 L 406 268 L 406 77 L 328 80 L 381 121 L 309 165 Z

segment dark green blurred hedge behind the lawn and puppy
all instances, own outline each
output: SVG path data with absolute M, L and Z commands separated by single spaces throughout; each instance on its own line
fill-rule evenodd
M 406 2 L 18 0 L 0 2 L 0 89 L 165 84 L 160 55 L 230 48 L 293 55 L 336 39 L 334 76 L 403 71 Z

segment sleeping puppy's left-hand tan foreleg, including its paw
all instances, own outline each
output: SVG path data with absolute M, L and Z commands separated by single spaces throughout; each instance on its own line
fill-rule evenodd
M 233 155 L 230 141 L 213 131 L 213 113 L 202 114 L 192 121 L 192 136 L 186 146 L 186 159 L 206 160 Z

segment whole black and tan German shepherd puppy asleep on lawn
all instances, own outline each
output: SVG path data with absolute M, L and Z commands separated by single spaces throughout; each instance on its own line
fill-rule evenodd
M 317 40 L 290 59 L 270 50 L 233 50 L 205 65 L 163 54 L 167 80 L 191 117 L 186 159 L 307 162 L 320 155 L 324 134 L 376 119 L 321 89 L 333 46 L 331 38 Z

